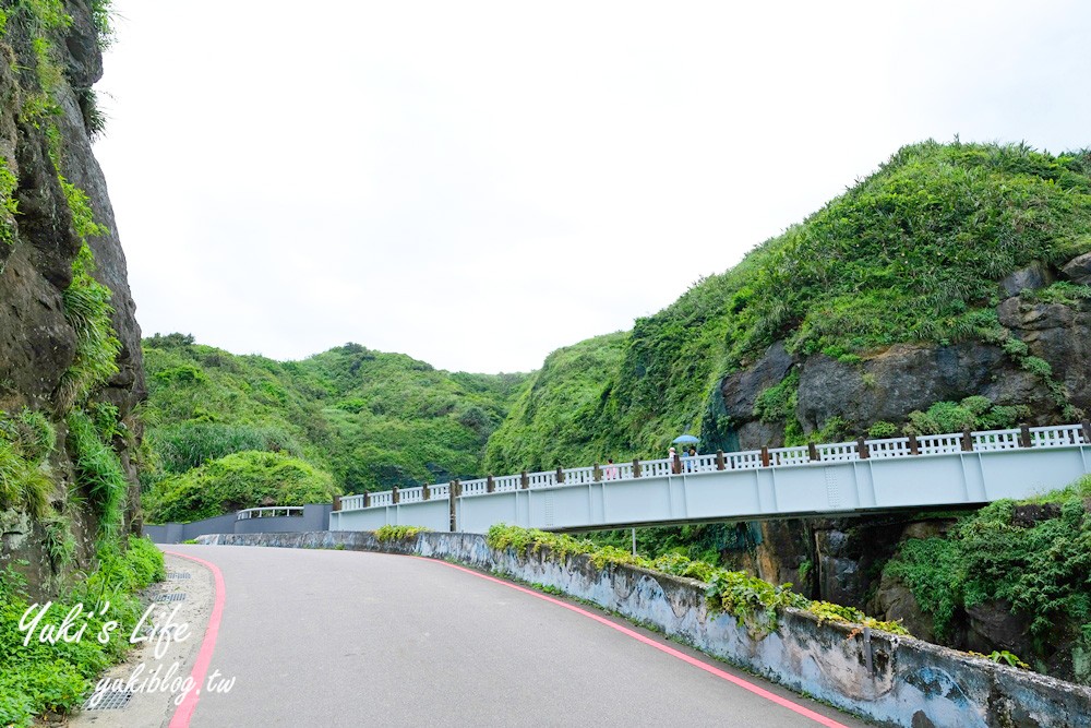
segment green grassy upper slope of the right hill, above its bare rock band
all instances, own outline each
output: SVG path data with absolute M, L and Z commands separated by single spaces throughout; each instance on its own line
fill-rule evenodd
M 533 374 L 529 386 L 543 402 L 560 402 L 544 392 L 574 378 L 597 387 L 597 410 L 578 430 L 564 427 L 564 407 L 513 415 L 495 440 L 530 442 L 490 445 L 488 462 L 496 470 L 529 465 L 525 453 L 541 452 L 542 432 L 553 433 L 551 452 L 658 456 L 698 422 L 706 433 L 721 430 L 715 384 L 776 341 L 851 360 L 899 342 L 995 336 L 1000 278 L 1031 261 L 1059 263 L 1089 250 L 1091 154 L 907 146 L 734 268 L 638 319 L 620 361 Z

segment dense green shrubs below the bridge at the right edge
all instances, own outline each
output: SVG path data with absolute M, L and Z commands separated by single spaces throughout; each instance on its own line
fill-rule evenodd
M 1077 681 L 1091 684 L 1091 476 L 1026 501 L 1002 500 L 961 517 L 946 538 L 910 539 L 886 565 L 955 639 L 966 610 L 999 600 L 1028 623 L 1041 663 L 1074 655 Z

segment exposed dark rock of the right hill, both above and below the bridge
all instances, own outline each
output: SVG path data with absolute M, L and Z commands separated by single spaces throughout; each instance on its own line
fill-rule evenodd
M 846 359 L 792 355 L 778 342 L 753 366 L 720 382 L 718 394 L 730 419 L 719 421 L 730 425 L 716 437 L 741 450 L 781 446 L 786 440 L 822 441 L 830 434 L 850 439 L 866 435 L 876 422 L 912 428 L 920 423 L 912 413 L 971 396 L 1009 407 L 1031 425 L 1081 418 L 1091 411 L 1091 307 L 1079 296 L 1043 296 L 1057 282 L 1071 284 L 1072 291 L 1091 282 L 1091 254 L 1057 267 L 1034 264 L 1008 276 L 1000 284 L 1007 298 L 995 307 L 998 327 L 982 337 L 987 341 L 897 344 Z M 788 392 L 779 399 L 787 406 L 763 407 L 764 393 L 786 383 Z M 777 413 L 788 416 L 770 416 Z M 932 620 L 911 590 L 882 573 L 900 544 L 943 535 L 954 523 L 949 515 L 919 517 L 925 520 L 755 524 L 758 537 L 724 556 L 763 578 L 791 582 L 808 596 L 863 608 L 882 619 L 900 619 L 914 635 L 934 640 Z M 980 605 L 959 625 L 955 642 L 983 653 L 1031 654 L 1024 622 L 1008 605 Z M 1067 673 L 1064 666 L 1050 667 Z

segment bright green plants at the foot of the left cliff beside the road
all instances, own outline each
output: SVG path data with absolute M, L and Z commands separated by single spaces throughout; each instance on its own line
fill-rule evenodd
M 0 726 L 31 726 L 47 712 L 70 713 L 91 692 L 95 677 L 119 661 L 128 649 L 129 634 L 143 612 L 134 593 L 166 578 L 163 553 L 146 539 L 130 537 L 122 552 L 104 553 L 99 569 L 68 595 L 55 599 L 41 625 L 60 624 L 70 609 L 83 605 L 87 632 L 79 642 L 56 645 L 34 639 L 23 645 L 20 620 L 32 606 L 25 582 L 12 570 L 0 577 Z M 109 602 L 109 608 L 106 604 Z M 34 613 L 37 613 L 36 611 Z M 119 626 L 106 644 L 96 637 L 108 620 Z M 82 623 L 82 622 L 80 622 Z

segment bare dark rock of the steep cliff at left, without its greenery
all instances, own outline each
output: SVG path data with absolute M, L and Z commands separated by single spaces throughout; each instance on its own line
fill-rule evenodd
M 72 521 L 80 553 L 85 556 L 93 550 L 94 523 L 85 511 L 86 504 L 77 501 L 67 504 L 72 454 L 64 438 L 65 403 L 59 396 L 61 378 L 73 363 L 76 351 L 76 334 L 64 317 L 62 294 L 72 282 L 72 263 L 81 240 L 73 229 L 60 175 L 86 193 L 95 222 L 108 230 L 87 242 L 95 256 L 93 275 L 112 291 L 112 326 L 122 351 L 117 359 L 119 372 L 105 387 L 93 392 L 91 401 L 113 404 L 124 418 L 144 396 L 144 375 L 141 332 L 129 290 L 124 253 L 106 180 L 92 152 L 77 100 L 101 75 L 101 53 L 87 3 L 68 0 L 64 5 L 72 16 L 71 25 L 48 32 L 51 52 L 63 74 L 63 80 L 53 87 L 39 87 L 32 29 L 24 16 L 10 15 L 8 33 L 0 39 L 11 56 L 10 63 L 0 64 L 0 95 L 7 99 L 0 108 L 0 156 L 17 178 L 13 196 L 19 204 L 19 215 L 10 226 L 12 240 L 10 244 L 0 244 L 0 409 L 40 410 L 57 426 L 57 451 L 50 458 L 57 481 L 52 501 Z M 59 114 L 50 115 L 49 123 L 27 121 L 21 114 L 24 102 L 44 92 Z M 60 132 L 60 152 L 55 152 L 59 168 L 49 155 L 50 124 L 56 124 Z M 140 428 L 136 423 L 134 427 L 139 444 Z M 139 526 L 139 487 L 127 452 L 129 445 L 120 438 L 113 445 L 132 480 L 125 522 Z M 31 561 L 26 571 L 32 587 L 43 586 L 49 564 L 43 556 L 40 526 L 25 514 L 3 511 L 0 532 L 0 564 L 13 559 Z

